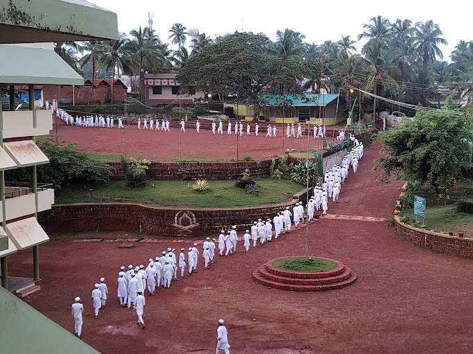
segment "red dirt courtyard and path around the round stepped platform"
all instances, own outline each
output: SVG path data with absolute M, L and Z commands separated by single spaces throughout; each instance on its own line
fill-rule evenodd
M 379 147 L 364 154 L 359 173 L 351 173 L 329 214 L 392 217 L 401 183 L 374 181 L 370 171 Z M 322 218 L 310 224 L 310 255 L 343 262 L 358 274 L 356 283 L 297 293 L 252 280 L 252 271 L 271 258 L 304 255 L 305 237 L 300 228 L 248 254 L 239 242 L 238 254 L 217 257 L 208 271 L 200 258 L 195 276 L 146 297 L 145 330 L 136 326 L 134 311 L 118 304 L 120 266 L 146 264 L 166 247 L 179 250 L 192 241 L 158 239 L 119 249 L 117 242 L 53 237 L 40 246 L 42 289 L 25 301 L 72 331 L 70 305 L 81 296 L 83 340 L 102 353 L 214 353 L 221 318 L 233 354 L 472 352 L 473 262 L 411 246 L 383 221 Z M 31 251 L 9 256 L 8 262 L 11 274 L 31 276 Z M 109 300 L 94 319 L 90 292 L 102 276 Z

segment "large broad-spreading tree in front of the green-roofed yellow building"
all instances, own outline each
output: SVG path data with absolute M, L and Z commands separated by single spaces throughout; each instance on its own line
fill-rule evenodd
M 299 57 L 282 59 L 270 53 L 271 42 L 264 35 L 234 33 L 215 44 L 207 45 L 191 56 L 179 69 L 176 80 L 183 93 L 191 87 L 208 90 L 209 83 L 226 87 L 239 99 L 248 100 L 255 107 L 253 119 L 259 117 L 266 101 L 264 87 L 281 87 L 287 92 L 302 91 L 298 79 L 314 75 L 314 63 Z

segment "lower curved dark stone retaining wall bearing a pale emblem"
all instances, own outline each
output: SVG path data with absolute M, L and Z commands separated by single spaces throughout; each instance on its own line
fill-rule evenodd
M 233 225 L 245 230 L 259 218 L 272 219 L 286 206 L 292 211 L 299 199 L 305 204 L 306 193 L 303 190 L 294 194 L 287 203 L 253 208 L 184 209 L 136 203 L 53 205 L 51 210 L 40 212 L 38 220 L 47 233 L 129 230 L 164 237 L 200 237 Z

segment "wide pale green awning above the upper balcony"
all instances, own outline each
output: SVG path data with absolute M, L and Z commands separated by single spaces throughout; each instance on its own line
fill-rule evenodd
M 82 76 L 54 51 L 0 44 L 0 58 L 0 83 L 83 85 Z

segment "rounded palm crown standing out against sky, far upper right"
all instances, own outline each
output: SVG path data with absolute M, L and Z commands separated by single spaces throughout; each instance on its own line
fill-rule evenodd
M 426 22 L 416 22 L 415 33 L 412 35 L 414 42 L 415 56 L 424 67 L 429 62 L 435 62 L 437 57 L 443 59 L 442 51 L 438 48 L 438 44 L 448 45 L 448 42 L 440 37 L 443 33 L 440 26 L 434 24 L 431 19 Z

